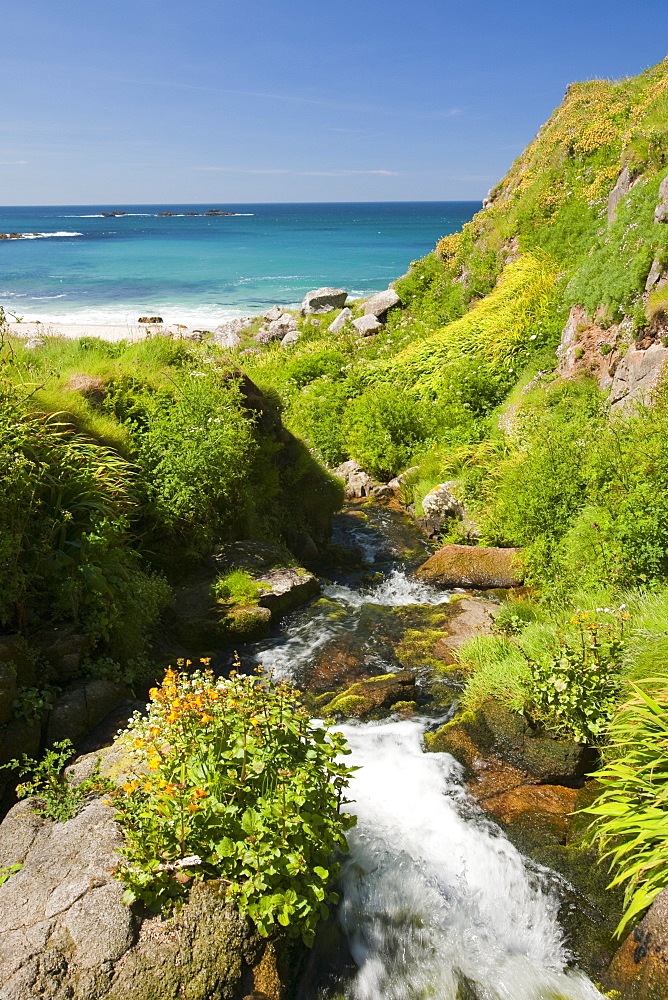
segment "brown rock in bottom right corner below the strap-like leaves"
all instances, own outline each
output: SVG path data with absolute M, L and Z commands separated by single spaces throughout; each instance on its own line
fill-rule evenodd
M 668 890 L 654 900 L 615 953 L 603 977 L 606 990 L 624 1000 L 665 1000 L 668 995 Z

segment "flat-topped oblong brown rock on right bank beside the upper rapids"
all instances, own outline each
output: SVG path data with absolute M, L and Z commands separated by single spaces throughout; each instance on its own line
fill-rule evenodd
M 521 549 L 446 545 L 427 559 L 417 576 L 437 587 L 518 587 L 523 582 Z

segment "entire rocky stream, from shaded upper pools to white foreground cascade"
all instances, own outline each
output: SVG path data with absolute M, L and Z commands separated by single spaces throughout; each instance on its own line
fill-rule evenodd
M 328 584 L 278 637 L 245 652 L 303 686 L 326 689 L 336 675 L 341 687 L 347 670 L 345 683 L 354 671 L 401 669 L 397 622 L 405 628 L 414 615 L 419 625 L 425 609 L 451 596 L 412 577 L 423 543 L 386 508 L 340 515 L 335 540 L 355 545 L 365 565 Z M 339 664 L 334 675 L 331 662 Z M 337 726 L 352 750 L 346 762 L 359 767 L 349 790 L 358 823 L 336 917 L 348 961 L 326 988 L 312 977 L 303 1000 L 601 998 L 568 967 L 554 874 L 526 861 L 484 816 L 452 757 L 423 751 L 425 730 L 448 717 L 433 687 L 424 690 L 418 716 Z

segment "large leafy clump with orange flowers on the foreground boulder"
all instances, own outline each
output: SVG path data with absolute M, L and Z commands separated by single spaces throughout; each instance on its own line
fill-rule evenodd
M 261 935 L 278 923 L 310 944 L 353 822 L 341 734 L 315 726 L 286 681 L 170 668 L 123 741 L 125 901 L 169 908 L 193 880 L 217 880 Z

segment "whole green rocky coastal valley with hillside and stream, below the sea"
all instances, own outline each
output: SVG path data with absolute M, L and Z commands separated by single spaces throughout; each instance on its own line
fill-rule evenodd
M 16 1000 L 664 1000 L 667 125 L 572 85 L 369 299 L 0 313 Z

